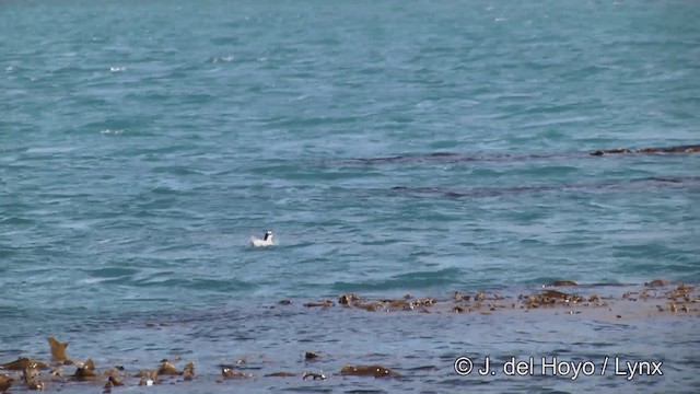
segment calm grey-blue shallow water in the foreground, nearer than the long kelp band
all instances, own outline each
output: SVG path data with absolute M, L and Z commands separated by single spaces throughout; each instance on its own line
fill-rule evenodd
M 606 301 L 606 306 L 600 308 L 523 310 L 511 309 L 508 305 L 516 301 L 506 300 L 501 302 L 506 305 L 503 309 L 486 308 L 472 313 L 439 308 L 452 305 L 452 300 L 441 300 L 425 311 L 394 312 L 369 312 L 339 304 L 315 308 L 300 300 L 290 300 L 289 304 L 234 302 L 187 313 L 96 318 L 62 332 L 74 338 L 69 355 L 92 354 L 101 370 L 125 368 L 126 386 L 114 389 L 118 391 L 431 393 L 603 387 L 690 392 L 700 383 L 692 373 L 699 367 L 695 351 L 697 301 L 691 304 L 692 313 L 658 314 L 649 306 L 665 306 L 663 300 L 650 304 L 623 301 L 620 292 L 626 290 L 630 287 L 576 289 L 618 300 Z M 46 344 L 39 339 L 43 338 L 35 333 L 16 344 L 21 350 L 9 349 L 0 357 L 46 355 Z M 305 358 L 307 351 L 318 357 Z M 195 381 L 161 376 L 153 387 L 138 386 L 136 373 L 160 363 L 154 355 L 174 360 L 180 370 L 185 362 L 194 361 Z M 471 362 L 470 373 L 458 375 L 455 362 L 465 357 Z M 396 376 L 343 376 L 340 371 L 348 363 L 388 367 Z M 632 369 L 634 363 L 655 364 L 657 370 Z M 515 369 L 515 364 L 520 367 Z M 223 380 L 220 371 L 224 366 L 249 378 Z M 60 369 L 68 376 L 75 367 Z M 276 372 L 293 375 L 270 376 Z M 302 379 L 304 372 L 323 374 L 325 380 Z M 70 378 L 56 378 L 47 384 L 51 391 L 70 393 L 97 390 L 105 380 L 77 383 Z

